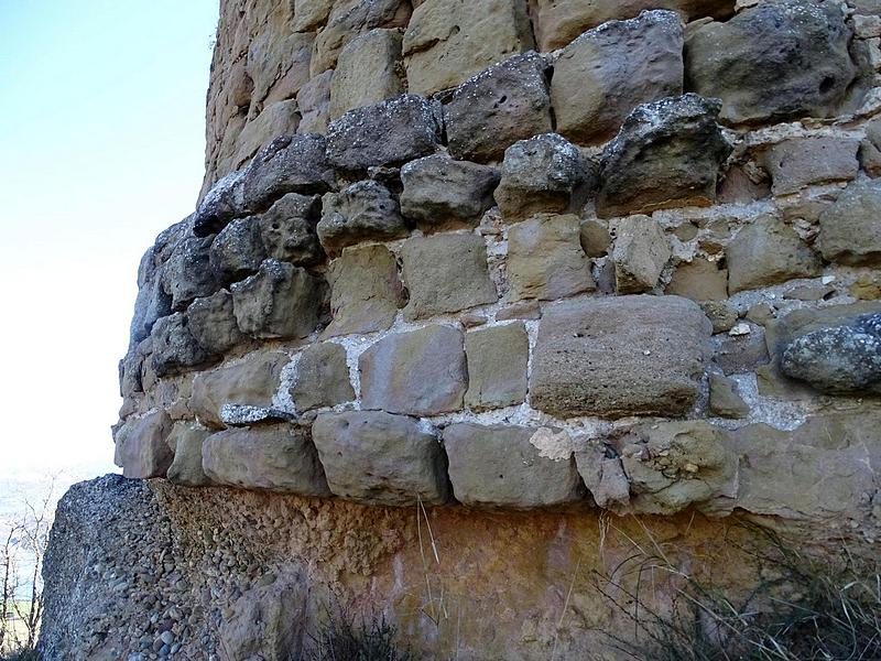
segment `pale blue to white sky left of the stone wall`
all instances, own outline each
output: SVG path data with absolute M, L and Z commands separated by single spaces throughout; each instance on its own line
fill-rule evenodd
M 0 0 L 0 479 L 115 470 L 143 251 L 193 212 L 218 0 Z

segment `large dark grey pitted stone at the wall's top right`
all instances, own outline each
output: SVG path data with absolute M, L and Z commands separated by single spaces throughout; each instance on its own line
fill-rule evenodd
M 849 40 L 836 4 L 762 2 L 690 30 L 686 77 L 698 94 L 722 99 L 726 122 L 828 117 L 853 79 Z

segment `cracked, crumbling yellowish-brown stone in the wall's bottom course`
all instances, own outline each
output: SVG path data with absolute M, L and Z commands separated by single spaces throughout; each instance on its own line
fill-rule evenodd
M 738 495 L 738 463 L 728 433 L 703 421 L 634 427 L 619 441 L 630 478 L 631 507 L 639 513 L 673 514 L 698 510 L 714 499 Z

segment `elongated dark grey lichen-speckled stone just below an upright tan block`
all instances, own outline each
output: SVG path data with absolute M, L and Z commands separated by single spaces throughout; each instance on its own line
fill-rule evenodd
M 327 154 L 335 167 L 362 172 L 427 156 L 440 144 L 432 101 L 412 94 L 349 110 L 327 129 Z

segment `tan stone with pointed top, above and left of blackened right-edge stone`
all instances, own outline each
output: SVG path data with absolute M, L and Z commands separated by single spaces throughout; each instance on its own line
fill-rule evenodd
M 741 229 L 725 254 L 728 291 L 732 294 L 793 278 L 812 278 L 823 268 L 798 234 L 774 216 L 763 216 Z

